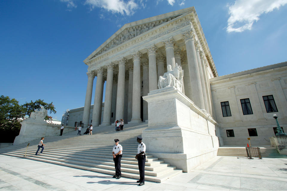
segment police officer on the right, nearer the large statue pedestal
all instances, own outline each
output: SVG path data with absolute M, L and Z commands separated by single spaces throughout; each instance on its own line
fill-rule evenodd
M 138 170 L 140 171 L 140 180 L 137 181 L 139 186 L 144 185 L 144 166 L 146 163 L 146 145 L 142 142 L 141 137 L 137 138 L 138 141 L 138 154 L 135 155 L 135 158 L 138 159 Z

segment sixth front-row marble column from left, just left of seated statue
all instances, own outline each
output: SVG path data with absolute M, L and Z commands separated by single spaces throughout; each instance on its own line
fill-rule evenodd
M 150 46 L 147 50 L 147 54 L 149 56 L 149 73 L 148 73 L 148 78 L 149 78 L 149 90 L 148 93 L 152 90 L 157 90 L 158 89 L 158 77 L 156 73 L 156 52 L 157 52 L 157 47 L 155 45 Z M 144 96 L 147 96 L 144 95 Z

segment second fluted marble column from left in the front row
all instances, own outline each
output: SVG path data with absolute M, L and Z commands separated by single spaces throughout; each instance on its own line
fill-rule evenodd
M 94 109 L 93 109 L 93 126 L 99 126 L 101 123 L 100 115 L 102 113 L 102 103 L 103 103 L 103 69 L 99 68 L 97 72 L 97 83 L 94 98 Z

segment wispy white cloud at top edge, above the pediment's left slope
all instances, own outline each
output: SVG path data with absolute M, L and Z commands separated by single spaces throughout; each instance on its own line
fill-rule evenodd
M 95 7 L 100 7 L 112 13 L 120 13 L 122 15 L 132 15 L 134 10 L 138 8 L 138 4 L 134 0 L 86 0 L 85 4 L 90 5 L 91 10 Z

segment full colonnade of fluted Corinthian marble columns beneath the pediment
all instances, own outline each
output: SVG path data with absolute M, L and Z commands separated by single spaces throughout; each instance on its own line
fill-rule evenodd
M 141 66 L 143 67 L 143 96 L 150 91 L 158 89 L 158 76 L 164 74 L 164 64 L 171 65 L 172 69 L 175 63 L 184 70 L 184 94 L 190 98 L 201 110 L 212 115 L 211 96 L 206 57 L 202 51 L 201 45 L 196 41 L 196 34 L 193 30 L 182 33 L 185 42 L 186 58 L 182 56 L 182 50 L 175 47 L 173 38 L 163 41 L 166 50 L 166 57 L 158 53 L 158 47 L 154 44 L 145 48 L 148 55 L 147 59 L 142 59 L 143 55 L 138 51 L 132 53 L 131 65 L 127 66 L 126 58 L 120 58 L 110 62 L 104 67 L 88 72 L 88 85 L 86 91 L 85 107 L 83 113 L 84 127 L 89 124 L 91 97 L 94 77 L 97 76 L 94 109 L 92 115 L 92 125 L 111 125 L 111 107 L 112 107 L 112 88 L 115 69 L 117 72 L 117 95 L 115 118 L 124 118 L 125 91 L 127 100 L 127 120 L 130 123 L 141 122 Z M 118 69 L 118 70 L 117 70 Z M 127 70 L 127 74 L 126 74 Z M 106 74 L 106 77 L 104 76 Z M 128 85 L 125 86 L 125 80 L 128 76 Z M 103 121 L 101 123 L 103 84 L 106 80 L 105 104 L 103 111 Z M 125 88 L 128 87 L 128 90 Z M 145 101 L 144 101 L 145 102 Z M 147 104 L 143 104 L 144 121 L 148 119 Z M 125 121 L 126 122 L 126 121 Z

